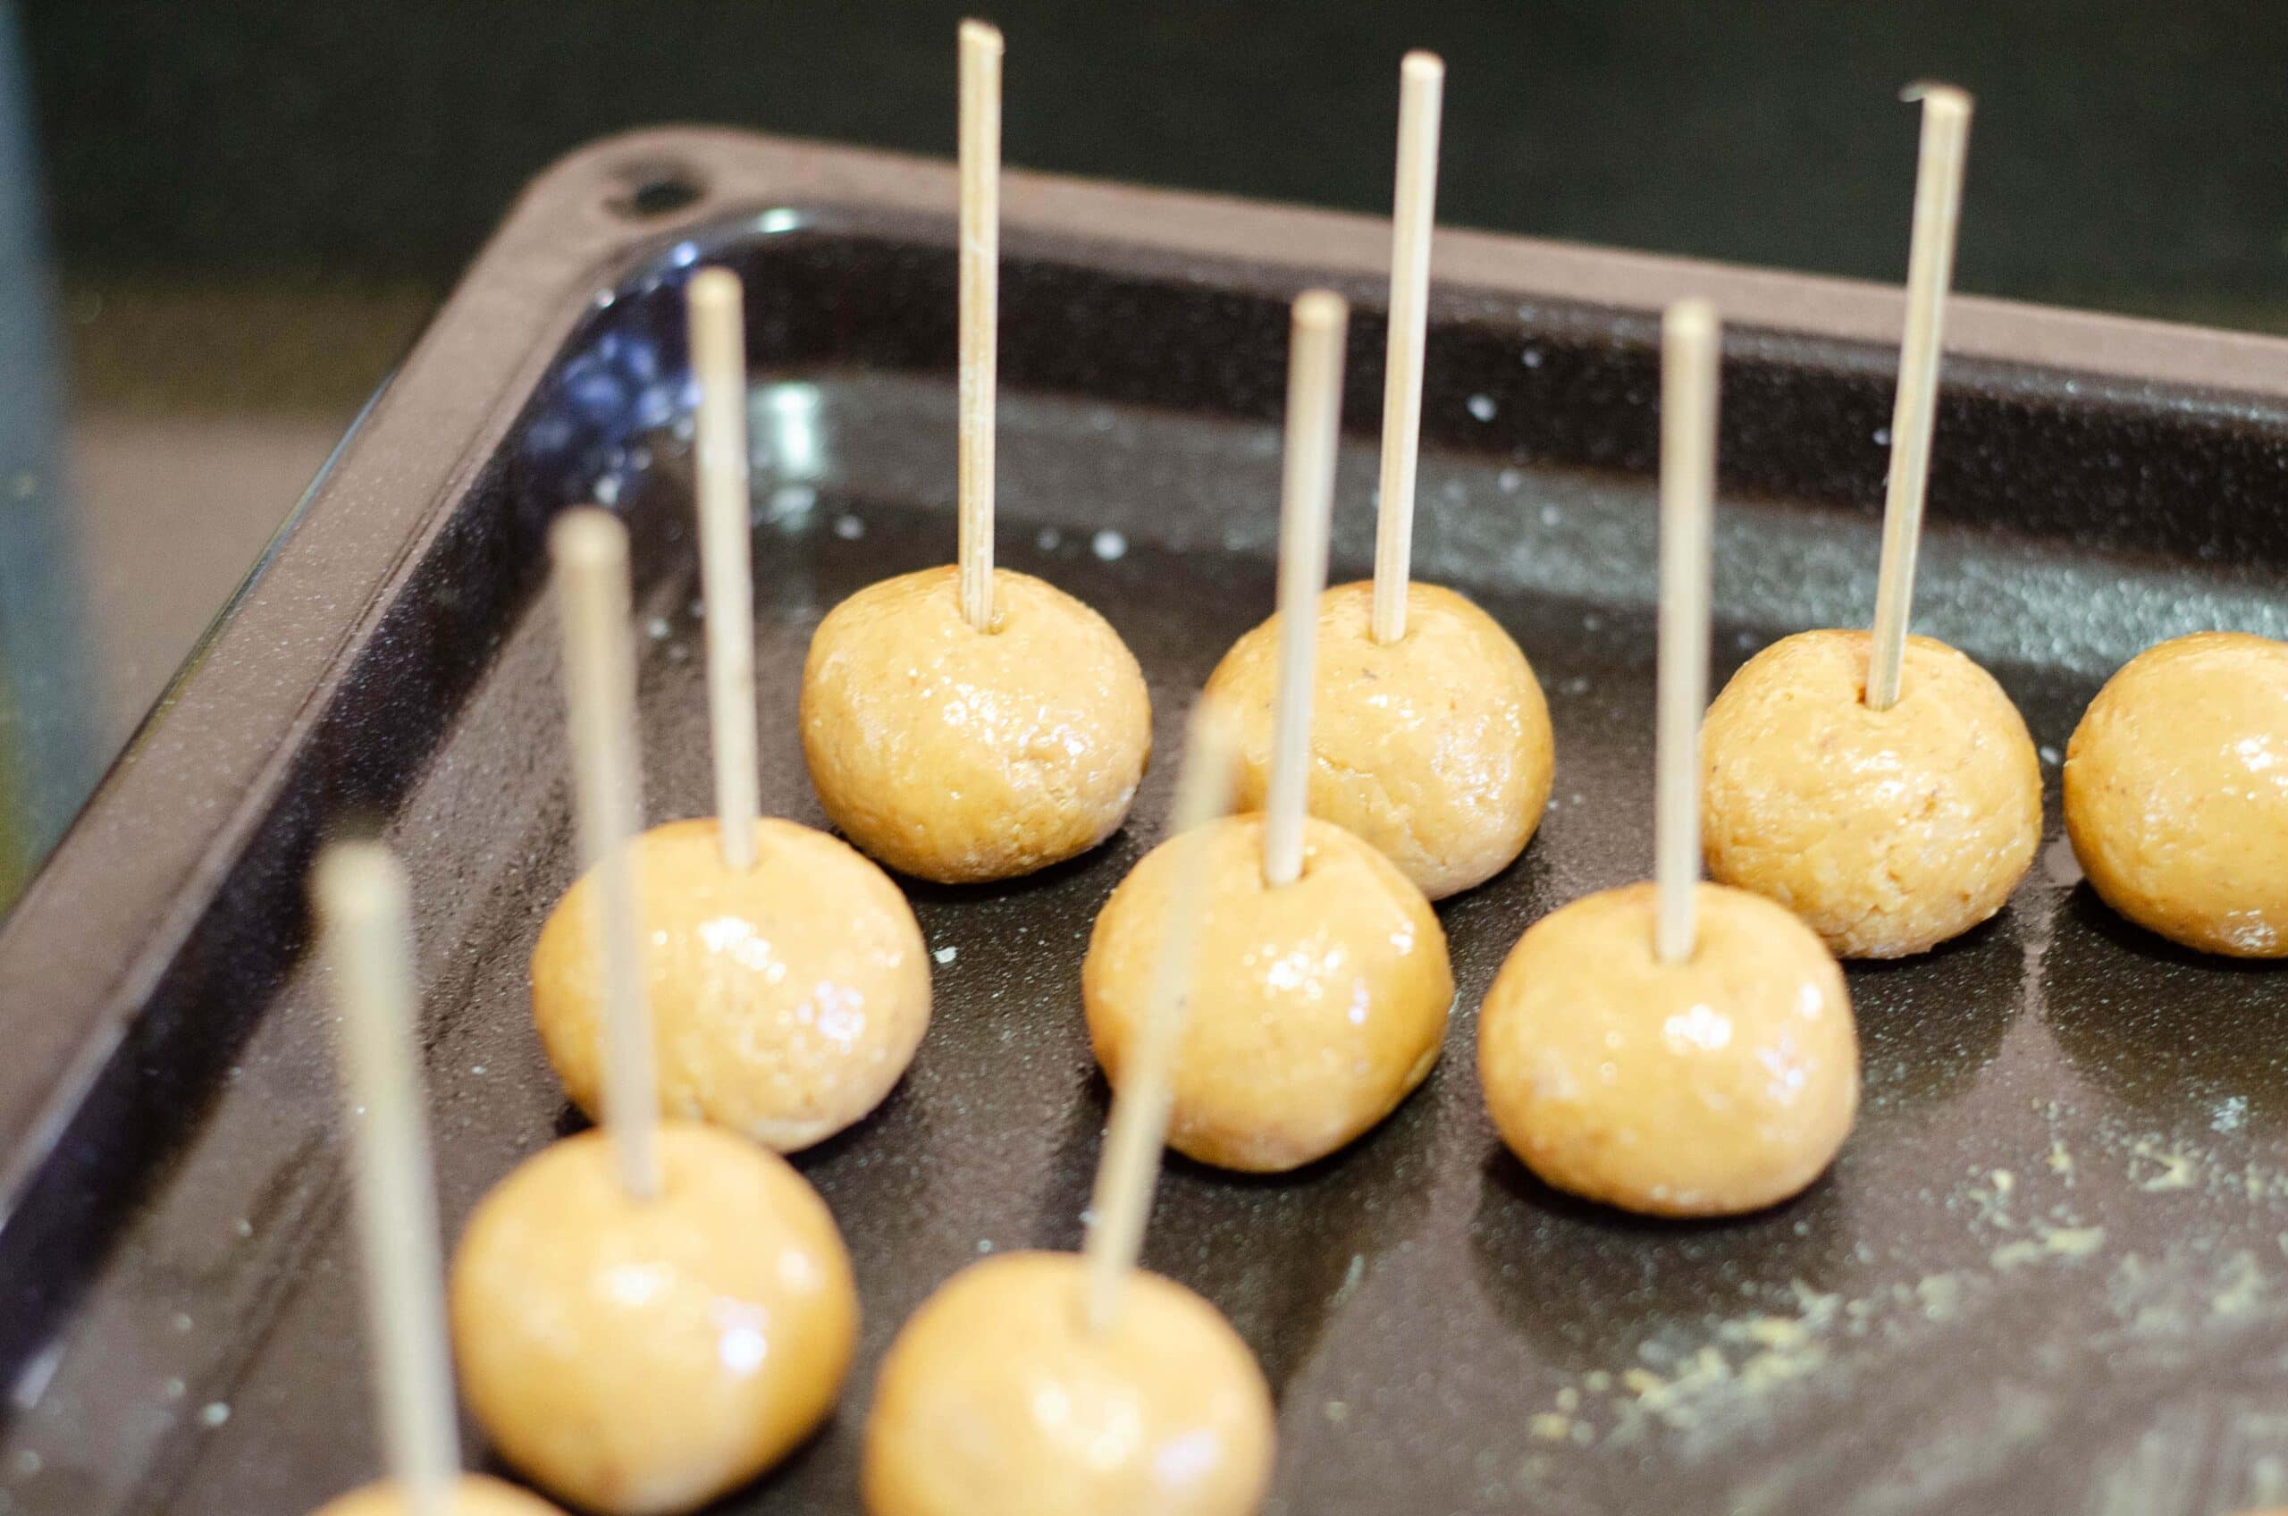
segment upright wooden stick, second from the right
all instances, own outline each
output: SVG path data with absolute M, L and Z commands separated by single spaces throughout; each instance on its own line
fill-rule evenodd
M 1700 886 L 1700 712 L 1709 703 L 1709 515 L 1716 497 L 1716 364 L 1707 300 L 1661 318 L 1661 687 L 1652 877 L 1661 962 L 1693 955 Z

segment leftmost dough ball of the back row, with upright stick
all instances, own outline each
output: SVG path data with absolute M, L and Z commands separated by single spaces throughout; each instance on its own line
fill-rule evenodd
M 995 623 L 954 568 L 883 579 L 819 623 L 803 756 L 858 847 L 938 884 L 1014 879 L 1119 831 L 1151 758 L 1151 698 L 1103 616 L 995 570 Z

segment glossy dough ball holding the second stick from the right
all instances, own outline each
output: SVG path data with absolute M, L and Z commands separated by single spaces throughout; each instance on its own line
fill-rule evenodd
M 1542 916 L 1478 1012 L 1485 1106 L 1547 1184 L 1650 1216 L 1737 1216 L 1835 1159 L 1858 1111 L 1844 973 L 1801 921 L 1698 886 L 1698 943 L 1652 950 L 1654 889 Z

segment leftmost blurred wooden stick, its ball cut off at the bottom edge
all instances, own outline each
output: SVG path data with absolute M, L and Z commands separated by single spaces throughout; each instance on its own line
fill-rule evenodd
M 366 1342 L 389 1472 L 412 1516 L 446 1516 L 460 1477 L 444 1337 L 437 1195 L 414 1067 L 412 911 L 380 843 L 336 843 L 311 877 L 341 1008 L 341 1085 L 357 1161 Z

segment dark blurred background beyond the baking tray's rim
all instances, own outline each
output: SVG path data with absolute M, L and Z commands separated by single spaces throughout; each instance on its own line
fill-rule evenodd
M 650 121 L 947 156 L 966 9 L 0 0 L 0 909 L 519 183 Z M 982 14 L 1016 165 L 1382 213 L 1425 46 L 1444 220 L 1867 279 L 1906 261 L 1897 89 L 1949 78 L 1961 289 L 2288 330 L 2281 0 Z

